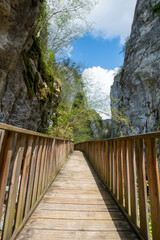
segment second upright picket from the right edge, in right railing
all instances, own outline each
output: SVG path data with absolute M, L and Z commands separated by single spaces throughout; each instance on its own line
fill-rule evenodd
M 145 160 L 143 154 L 143 141 L 136 140 L 136 166 L 139 193 L 140 231 L 144 239 L 149 239 L 147 184 L 145 172 Z

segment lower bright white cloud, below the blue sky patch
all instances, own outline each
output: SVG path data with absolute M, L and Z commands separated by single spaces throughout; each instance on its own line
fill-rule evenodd
M 109 101 L 109 95 L 110 95 L 110 88 L 113 84 L 114 76 L 117 73 L 119 68 L 115 68 L 114 70 L 108 70 L 98 67 L 92 67 L 92 68 L 86 68 L 82 73 L 82 78 L 84 81 L 89 82 L 90 87 L 90 97 L 91 101 L 95 99 L 98 101 L 98 99 L 104 99 L 106 101 L 106 108 L 108 108 L 108 117 L 110 118 L 110 101 Z M 108 99 L 108 100 L 107 100 Z M 103 106 L 102 109 L 104 110 Z M 106 115 L 104 116 L 101 114 L 102 118 L 106 118 Z

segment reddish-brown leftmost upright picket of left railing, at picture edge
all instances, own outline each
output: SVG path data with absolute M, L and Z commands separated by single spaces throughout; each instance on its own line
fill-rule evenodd
M 0 151 L 0 219 L 5 198 L 5 190 L 13 151 L 15 134 L 5 131 Z

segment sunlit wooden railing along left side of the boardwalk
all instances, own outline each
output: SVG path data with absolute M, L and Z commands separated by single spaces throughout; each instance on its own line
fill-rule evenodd
M 73 146 L 0 123 L 0 239 L 15 239 Z

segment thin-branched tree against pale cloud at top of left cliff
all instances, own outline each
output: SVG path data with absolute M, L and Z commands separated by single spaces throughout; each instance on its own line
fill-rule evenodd
M 54 54 L 69 49 L 70 43 L 83 36 L 91 28 L 86 16 L 97 0 L 47 0 L 42 3 L 40 22 L 37 28 L 39 37 L 48 28 L 48 44 Z M 43 9 L 44 8 L 44 9 Z M 45 12 L 45 14 L 44 14 Z

